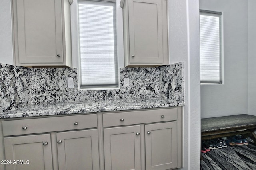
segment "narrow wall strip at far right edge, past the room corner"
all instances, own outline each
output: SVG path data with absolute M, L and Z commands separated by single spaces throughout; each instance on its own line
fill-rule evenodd
M 256 1 L 248 0 L 248 114 L 256 115 Z

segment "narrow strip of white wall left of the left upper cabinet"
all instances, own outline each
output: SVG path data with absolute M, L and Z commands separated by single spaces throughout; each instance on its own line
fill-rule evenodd
M 0 0 L 0 63 L 13 65 L 10 0 Z

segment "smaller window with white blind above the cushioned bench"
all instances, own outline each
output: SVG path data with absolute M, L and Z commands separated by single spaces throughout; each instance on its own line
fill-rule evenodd
M 201 83 L 222 83 L 221 12 L 200 10 Z

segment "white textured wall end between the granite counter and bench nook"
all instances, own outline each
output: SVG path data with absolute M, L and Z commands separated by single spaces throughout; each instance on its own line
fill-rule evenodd
M 200 169 L 200 54 L 198 0 L 169 0 L 170 63 L 184 61 L 183 169 Z

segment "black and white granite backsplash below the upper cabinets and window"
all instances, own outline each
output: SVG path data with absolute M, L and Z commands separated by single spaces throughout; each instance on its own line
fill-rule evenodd
M 124 77 L 130 80 L 124 86 Z M 67 78 L 74 88 L 67 88 Z M 120 68 L 120 88 L 78 90 L 76 68 L 24 68 L 0 63 L 0 113 L 28 104 L 122 98 L 166 98 L 184 103 L 184 63 Z

